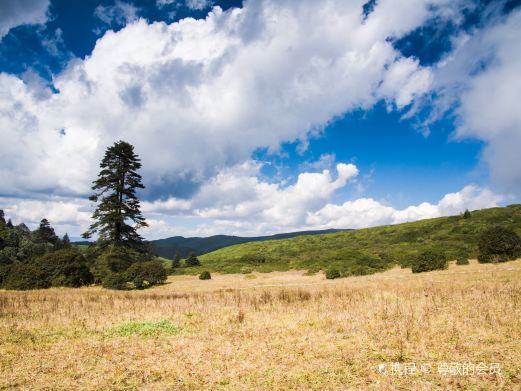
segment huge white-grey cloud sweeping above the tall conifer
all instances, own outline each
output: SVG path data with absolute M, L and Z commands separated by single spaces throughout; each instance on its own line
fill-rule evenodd
M 365 20 L 363 3 L 263 0 L 205 20 L 137 20 L 72 61 L 45 99 L 2 74 L 0 134 L 11 142 L 0 177 L 17 194 L 84 194 L 103 150 L 124 139 L 142 157 L 147 198 L 191 195 L 257 148 L 306 140 L 382 98 L 403 107 L 430 71 L 389 37 L 445 1 L 382 0 Z

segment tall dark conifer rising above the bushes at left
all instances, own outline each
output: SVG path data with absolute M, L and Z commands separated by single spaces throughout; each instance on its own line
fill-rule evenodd
M 102 242 L 143 249 L 143 238 L 137 230 L 147 227 L 140 211 L 137 189 L 144 189 L 139 157 L 134 147 L 118 141 L 107 148 L 100 164 L 98 179 L 93 182 L 94 194 L 89 198 L 98 206 L 92 215 L 95 222 L 83 234 L 85 239 L 94 233 L 99 234 Z

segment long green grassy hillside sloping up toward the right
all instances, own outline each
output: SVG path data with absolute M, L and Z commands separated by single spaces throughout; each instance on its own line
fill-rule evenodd
M 316 272 L 328 267 L 343 275 L 383 271 L 394 264 L 411 265 L 423 250 L 441 250 L 449 259 L 465 252 L 477 256 L 479 235 L 500 225 L 521 234 L 521 205 L 477 210 L 463 215 L 388 225 L 325 235 L 250 242 L 225 247 L 200 257 L 205 269 L 223 273 L 301 269 Z

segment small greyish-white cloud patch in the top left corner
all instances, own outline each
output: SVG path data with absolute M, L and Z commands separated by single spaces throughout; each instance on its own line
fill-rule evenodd
M 16 26 L 47 22 L 49 0 L 2 0 L 0 2 L 0 41 Z

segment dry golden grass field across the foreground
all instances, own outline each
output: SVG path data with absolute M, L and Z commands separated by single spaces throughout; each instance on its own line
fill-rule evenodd
M 521 389 L 521 261 L 334 281 L 212 277 L 0 292 L 0 389 Z M 394 362 L 433 373 L 377 370 Z M 436 373 L 444 362 L 501 374 Z

